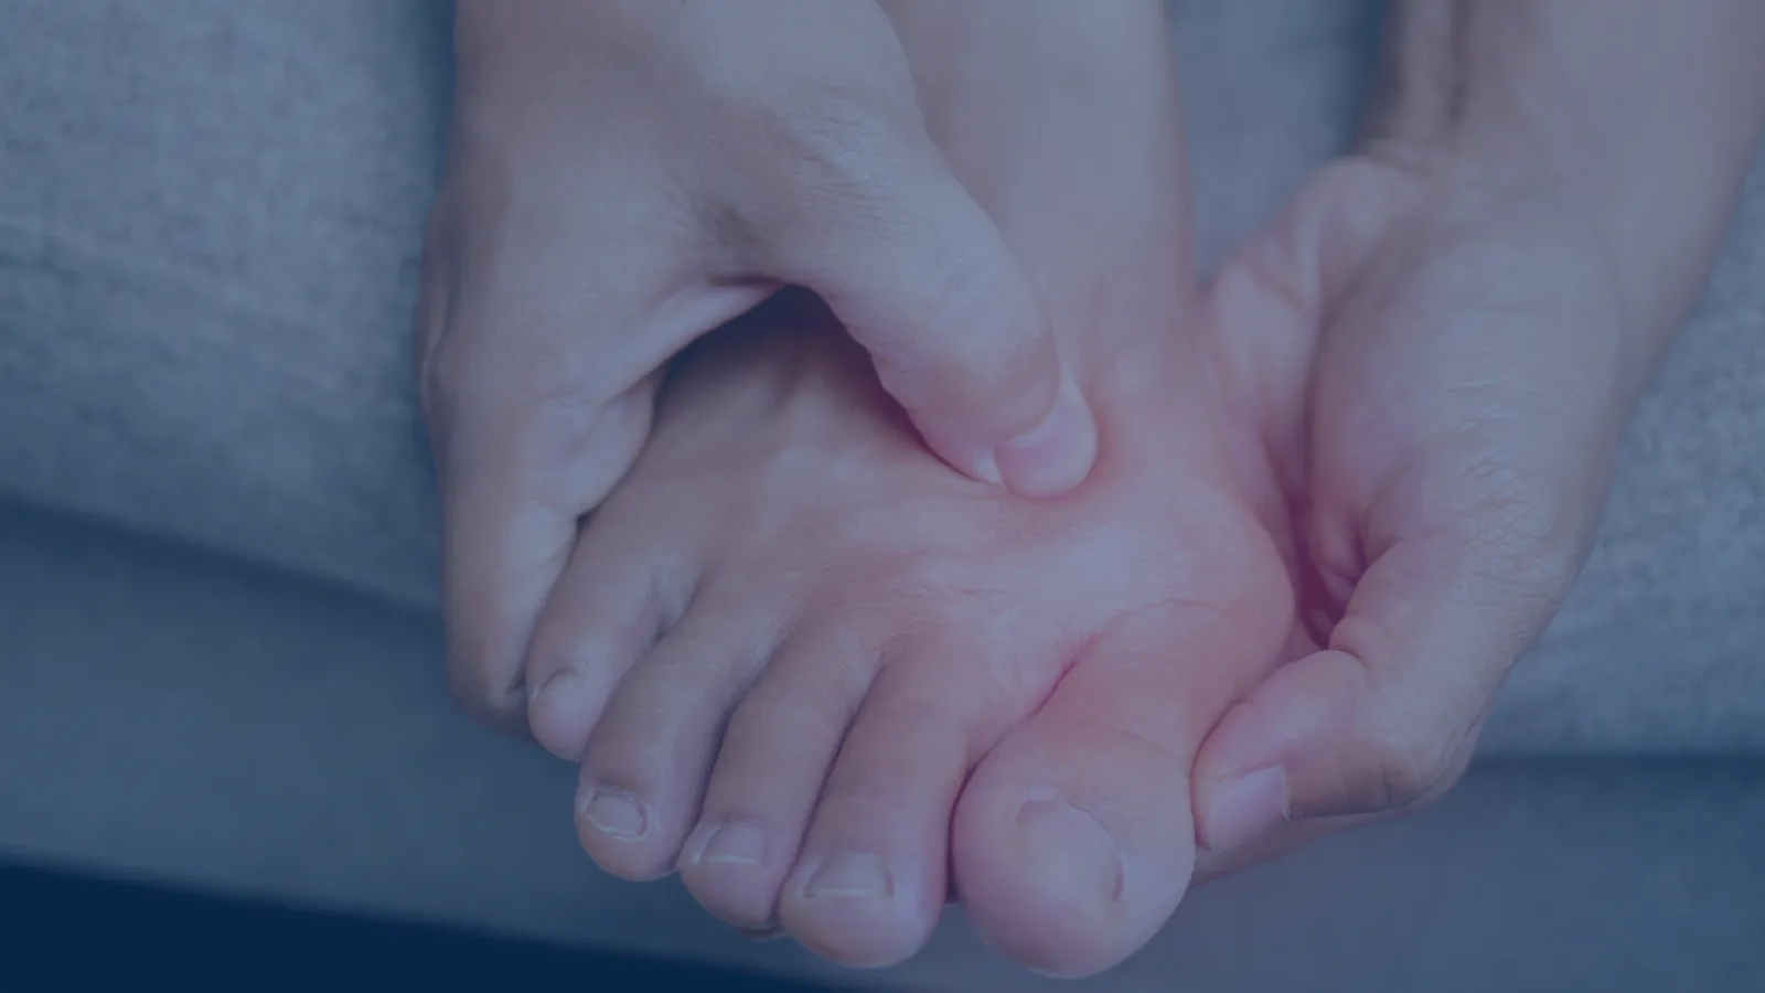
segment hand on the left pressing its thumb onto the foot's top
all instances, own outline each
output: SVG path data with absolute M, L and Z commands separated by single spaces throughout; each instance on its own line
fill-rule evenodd
M 418 337 L 450 682 L 480 716 L 521 716 L 533 618 L 657 369 L 782 284 L 828 300 L 955 468 L 1084 479 L 1091 415 L 877 4 L 462 0 L 457 64 Z

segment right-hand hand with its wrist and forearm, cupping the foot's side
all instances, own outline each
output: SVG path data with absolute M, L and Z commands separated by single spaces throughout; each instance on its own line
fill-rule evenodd
M 1197 762 L 1207 871 L 1416 807 L 1592 541 L 1765 127 L 1765 7 L 1408 0 L 1363 152 L 1214 281 L 1288 663 Z M 1650 65 L 1650 72 L 1638 72 Z

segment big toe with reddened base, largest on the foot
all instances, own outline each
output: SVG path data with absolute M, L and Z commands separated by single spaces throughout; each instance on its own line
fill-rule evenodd
M 1230 693 L 1207 654 L 1218 629 L 1202 608 L 1124 618 L 974 770 L 953 868 L 990 945 L 1087 975 L 1175 910 L 1195 862 L 1190 762 Z

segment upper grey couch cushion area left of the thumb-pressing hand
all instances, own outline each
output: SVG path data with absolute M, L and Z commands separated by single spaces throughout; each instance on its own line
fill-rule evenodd
M 432 599 L 447 7 L 0 0 L 0 484 Z

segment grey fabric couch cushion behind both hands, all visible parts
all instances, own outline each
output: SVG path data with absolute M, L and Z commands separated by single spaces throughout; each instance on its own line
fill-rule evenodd
M 1338 147 L 1368 4 L 1183 0 L 1214 256 Z M 425 0 L 0 0 L 0 493 L 431 608 Z M 1274 69 L 1278 67 L 1278 69 Z M 1765 170 L 1497 751 L 1765 747 Z

